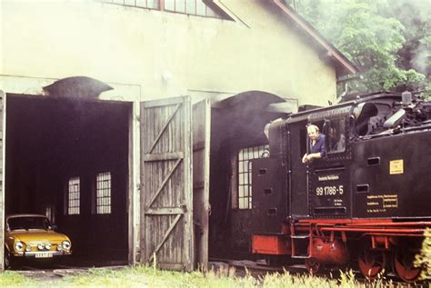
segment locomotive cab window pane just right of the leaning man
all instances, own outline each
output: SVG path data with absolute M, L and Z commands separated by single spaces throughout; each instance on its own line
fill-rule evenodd
M 346 119 L 330 120 L 326 124 L 326 153 L 335 154 L 346 151 Z

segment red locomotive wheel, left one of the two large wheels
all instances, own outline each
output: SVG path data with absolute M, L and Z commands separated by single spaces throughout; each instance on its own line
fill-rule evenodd
M 359 270 L 367 279 L 376 279 L 379 273 L 385 271 L 386 254 L 380 251 L 364 250 L 358 256 Z

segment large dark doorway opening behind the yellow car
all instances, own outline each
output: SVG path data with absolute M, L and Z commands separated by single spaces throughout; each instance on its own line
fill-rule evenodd
M 127 263 L 132 104 L 7 94 L 5 214 L 45 214 L 69 261 Z

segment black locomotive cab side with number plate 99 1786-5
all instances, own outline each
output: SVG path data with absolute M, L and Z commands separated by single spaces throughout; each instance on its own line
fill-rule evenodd
M 286 121 L 286 164 L 290 169 L 289 202 L 293 219 L 346 218 L 350 215 L 351 106 L 344 104 L 292 115 Z M 306 126 L 315 124 L 325 135 L 321 159 L 303 164 L 309 153 Z

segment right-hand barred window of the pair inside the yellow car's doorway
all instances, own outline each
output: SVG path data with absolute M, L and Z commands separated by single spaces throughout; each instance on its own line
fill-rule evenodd
M 97 174 L 95 189 L 96 214 L 111 214 L 111 173 Z

